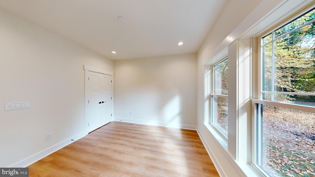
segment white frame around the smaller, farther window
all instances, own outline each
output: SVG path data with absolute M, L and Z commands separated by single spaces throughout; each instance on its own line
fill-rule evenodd
M 239 133 L 240 131 L 238 130 L 238 118 L 239 118 L 239 107 L 237 106 L 238 104 L 238 85 L 239 83 L 244 84 L 246 86 L 249 86 L 249 78 L 245 78 L 245 79 L 241 79 L 239 80 L 239 74 L 238 74 L 238 67 L 240 67 L 243 71 L 246 70 L 245 68 L 249 67 L 249 62 L 248 62 L 248 58 L 246 58 L 245 60 L 242 60 L 242 64 L 238 64 L 239 60 L 238 60 L 238 40 L 232 42 L 228 47 L 224 48 L 219 54 L 217 54 L 214 58 L 212 58 L 205 66 L 205 81 L 204 81 L 204 90 L 205 90 L 205 112 L 204 112 L 204 125 L 206 126 L 206 128 L 210 131 L 210 133 L 215 137 L 215 139 L 219 142 L 219 144 L 222 146 L 222 148 L 224 148 L 226 150 L 226 155 L 228 154 L 229 156 L 232 157 L 233 160 L 238 160 L 238 140 L 240 140 L 242 146 L 243 143 L 245 143 L 245 147 L 249 147 L 248 145 L 248 141 L 249 141 L 249 137 L 250 136 L 246 136 L 243 137 L 243 132 L 248 132 L 248 129 L 250 127 L 250 125 L 248 123 L 243 124 L 242 127 L 242 131 L 241 133 Z M 221 134 L 221 132 L 219 130 L 217 130 L 217 128 L 215 128 L 215 126 L 212 125 L 211 123 L 211 91 L 213 91 L 213 66 L 216 63 L 219 63 L 220 61 L 224 60 L 228 58 L 228 65 L 229 65 L 229 69 L 228 69 L 228 78 L 229 78 L 229 82 L 228 82 L 228 130 L 227 130 L 227 134 L 228 134 L 228 138 L 226 138 L 223 134 Z M 246 75 L 246 77 L 250 77 L 250 71 L 248 70 L 247 73 L 242 73 L 241 76 Z M 208 83 L 208 84 L 207 84 Z M 210 84 L 209 84 L 210 83 Z M 243 85 L 242 85 L 243 86 Z M 250 87 L 247 88 L 247 90 L 250 90 Z M 241 90 L 241 92 L 244 92 L 244 89 Z M 250 92 L 247 91 L 248 95 L 244 95 L 242 96 L 241 101 L 243 101 L 243 99 L 246 99 L 247 101 L 245 101 L 243 103 L 244 106 L 242 106 L 241 113 L 242 113 L 242 117 L 247 117 L 247 114 L 243 114 L 244 112 L 248 112 L 249 108 L 250 108 L 250 104 L 249 104 L 249 94 Z M 246 107 L 246 108 L 245 108 Z M 249 110 L 250 111 L 250 110 Z M 247 121 L 247 118 L 242 118 L 241 123 L 243 123 L 243 121 Z M 241 139 L 238 138 L 238 136 L 242 136 Z M 240 149 L 245 149 L 245 147 L 242 147 Z M 241 151 L 243 152 L 243 151 Z M 247 151 L 248 152 L 248 151 Z M 246 153 L 247 153 L 246 152 Z M 246 155 L 248 156 L 248 155 Z M 244 158 L 244 159 L 247 159 Z M 243 161 L 243 160 L 242 160 Z

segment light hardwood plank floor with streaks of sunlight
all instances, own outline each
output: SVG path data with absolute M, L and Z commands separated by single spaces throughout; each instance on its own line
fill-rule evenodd
M 196 131 L 117 121 L 29 171 L 30 177 L 219 177 Z

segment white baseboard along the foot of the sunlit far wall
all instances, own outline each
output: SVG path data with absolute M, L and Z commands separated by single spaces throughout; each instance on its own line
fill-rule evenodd
M 164 127 L 197 130 L 197 126 L 195 126 L 195 125 L 169 124 L 169 123 L 165 123 L 165 122 L 158 122 L 158 121 L 152 121 L 152 120 L 138 120 L 138 119 L 131 119 L 131 118 L 114 118 L 114 121 L 122 121 L 122 122 L 128 122 L 128 123 L 138 123 L 138 124 L 145 124 L 145 125 L 156 125 L 156 126 L 164 126 Z

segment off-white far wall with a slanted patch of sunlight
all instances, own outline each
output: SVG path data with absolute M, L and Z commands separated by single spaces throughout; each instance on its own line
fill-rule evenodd
M 196 55 L 115 60 L 116 120 L 196 126 Z

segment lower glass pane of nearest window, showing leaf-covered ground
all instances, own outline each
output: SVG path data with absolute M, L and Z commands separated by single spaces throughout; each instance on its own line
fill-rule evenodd
M 256 141 L 260 149 L 256 164 L 271 177 L 314 177 L 315 114 L 267 105 L 257 108 L 261 111 L 256 130 L 261 132 L 256 139 L 261 141 Z

